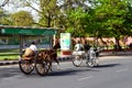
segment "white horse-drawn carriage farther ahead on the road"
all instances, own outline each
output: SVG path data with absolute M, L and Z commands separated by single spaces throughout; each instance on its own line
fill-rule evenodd
M 89 51 L 74 51 L 72 55 L 73 65 L 79 67 L 82 63 L 86 62 L 88 67 L 97 66 L 99 63 L 98 51 L 95 51 L 94 47 L 90 47 Z

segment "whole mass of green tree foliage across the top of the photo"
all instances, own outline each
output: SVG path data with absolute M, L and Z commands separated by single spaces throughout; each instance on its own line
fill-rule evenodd
M 15 0 L 14 0 L 15 1 Z M 37 26 L 61 28 L 73 36 L 132 35 L 131 0 L 16 0 L 38 13 Z M 26 4 L 25 4 L 26 3 Z M 38 8 L 35 8 L 36 3 Z M 1 15 L 1 11 L 0 11 Z M 29 15 L 29 16 L 25 16 Z M 31 14 L 14 13 L 3 24 L 32 25 Z

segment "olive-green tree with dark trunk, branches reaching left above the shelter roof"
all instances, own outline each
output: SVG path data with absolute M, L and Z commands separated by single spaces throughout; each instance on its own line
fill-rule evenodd
M 57 0 L 24 0 L 22 4 L 37 12 L 37 26 L 57 28 L 57 19 L 62 15 L 59 14 L 59 8 L 56 3 Z M 34 4 L 37 6 L 37 8 L 34 7 Z

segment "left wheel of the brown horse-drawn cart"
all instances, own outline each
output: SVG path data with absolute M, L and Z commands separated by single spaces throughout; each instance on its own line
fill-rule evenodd
M 29 75 L 33 72 L 34 65 L 34 59 L 21 59 L 19 62 L 20 69 L 25 75 Z

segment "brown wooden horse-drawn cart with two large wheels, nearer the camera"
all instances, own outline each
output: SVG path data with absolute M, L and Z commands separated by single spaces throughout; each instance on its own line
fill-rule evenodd
M 25 51 L 21 54 L 19 66 L 22 73 L 29 75 L 34 68 L 41 76 L 45 76 L 52 69 L 52 62 L 57 61 L 57 54 L 55 50 L 42 50 L 36 54 L 24 55 Z

